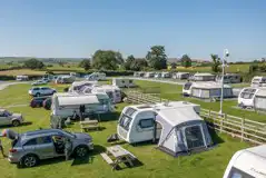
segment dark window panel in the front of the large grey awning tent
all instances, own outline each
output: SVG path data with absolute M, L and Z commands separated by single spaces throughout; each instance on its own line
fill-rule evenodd
M 186 136 L 188 149 L 194 149 L 194 148 L 205 146 L 200 126 L 187 127 L 185 129 L 185 136 Z

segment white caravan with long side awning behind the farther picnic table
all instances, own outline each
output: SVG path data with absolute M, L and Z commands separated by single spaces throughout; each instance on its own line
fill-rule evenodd
M 105 113 L 114 111 L 114 106 L 107 93 L 55 93 L 51 102 L 51 115 L 68 118 L 79 113 L 80 106 L 85 106 L 85 113 Z

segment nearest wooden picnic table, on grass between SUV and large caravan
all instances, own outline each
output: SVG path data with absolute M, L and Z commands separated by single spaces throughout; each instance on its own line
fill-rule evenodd
M 107 147 L 107 152 L 102 152 L 101 157 L 112 167 L 112 170 L 116 169 L 119 164 L 128 162 L 130 167 L 132 167 L 132 160 L 136 159 L 131 152 L 124 149 L 121 146 Z

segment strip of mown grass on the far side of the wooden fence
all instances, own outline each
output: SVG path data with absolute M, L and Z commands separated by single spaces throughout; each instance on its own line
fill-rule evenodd
M 152 81 L 135 81 L 144 92 L 158 92 L 161 98 L 169 100 L 187 100 L 194 103 L 198 103 L 201 108 L 211 109 L 215 111 L 219 111 L 220 102 L 206 102 L 200 99 L 187 98 L 181 96 L 183 86 L 170 85 L 170 83 L 161 83 L 161 82 L 152 82 Z M 225 100 L 223 105 L 224 112 L 227 115 L 238 116 L 246 119 L 252 119 L 256 121 L 266 122 L 266 115 L 257 113 L 249 110 L 237 109 L 237 100 Z

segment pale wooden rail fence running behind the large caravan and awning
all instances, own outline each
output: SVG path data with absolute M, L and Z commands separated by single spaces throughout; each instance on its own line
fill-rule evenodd
M 168 102 L 158 93 L 142 93 L 135 90 L 125 91 L 127 99 L 132 103 L 156 103 Z M 208 127 L 230 135 L 231 137 L 240 138 L 243 141 L 253 144 L 266 144 L 266 123 L 245 119 L 217 111 L 200 108 L 200 116 L 206 120 Z

